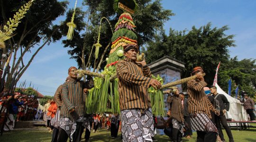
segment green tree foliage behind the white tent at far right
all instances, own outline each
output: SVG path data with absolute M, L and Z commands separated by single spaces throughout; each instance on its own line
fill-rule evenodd
M 228 90 L 228 80 L 232 80 L 231 94 L 235 96 L 235 89 L 245 91 L 252 98 L 256 94 L 256 59 L 231 58 L 219 68 L 218 84 L 223 90 Z M 239 93 L 240 94 L 240 93 Z

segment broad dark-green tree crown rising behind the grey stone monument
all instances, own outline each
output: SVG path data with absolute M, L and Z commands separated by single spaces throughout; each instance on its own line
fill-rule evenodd
M 234 35 L 225 35 L 227 26 L 211 27 L 211 23 L 190 31 L 175 31 L 170 29 L 169 35 L 162 31 L 155 36 L 155 41 L 146 47 L 146 61 L 153 62 L 166 55 L 185 63 L 182 78 L 189 77 L 196 66 L 201 66 L 205 80 L 211 84 L 215 69 L 219 62 L 228 62 L 228 47 L 235 46 Z

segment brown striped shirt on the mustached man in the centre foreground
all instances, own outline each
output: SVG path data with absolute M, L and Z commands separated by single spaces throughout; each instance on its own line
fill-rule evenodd
M 148 67 L 142 68 L 129 58 L 117 63 L 119 78 L 120 109 L 151 107 L 147 89 L 150 86 L 151 71 Z

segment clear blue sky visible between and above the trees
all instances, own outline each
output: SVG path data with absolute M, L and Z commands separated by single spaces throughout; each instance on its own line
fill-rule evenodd
M 75 0 L 69 0 L 69 8 L 73 8 Z M 171 9 L 175 16 L 165 23 L 168 35 L 170 27 L 175 30 L 190 30 L 192 26 L 201 27 L 208 22 L 212 27 L 229 26 L 227 35 L 236 35 L 236 47 L 229 48 L 230 57 L 256 58 L 256 0 L 162 0 L 165 9 Z M 82 0 L 78 0 L 78 7 Z M 85 9 L 85 8 L 83 8 Z M 63 20 L 58 18 L 55 22 Z M 61 41 L 46 45 L 34 58 L 19 82 L 27 80 L 27 86 L 38 88 L 43 95 L 53 96 L 55 90 L 67 77 L 70 66 L 77 63 L 70 59 Z M 33 50 L 32 50 L 33 52 Z M 28 60 L 27 54 L 24 60 Z M 18 85 L 19 85 L 18 82 Z

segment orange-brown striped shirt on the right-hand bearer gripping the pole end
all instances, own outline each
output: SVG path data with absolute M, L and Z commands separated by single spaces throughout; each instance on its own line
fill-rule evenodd
M 207 85 L 205 81 L 190 80 L 188 83 L 188 109 L 190 114 L 204 113 L 210 118 L 210 110 L 216 112 L 217 110 L 211 105 L 209 99 L 206 97 L 203 88 Z

